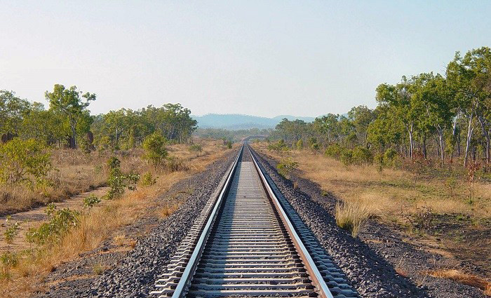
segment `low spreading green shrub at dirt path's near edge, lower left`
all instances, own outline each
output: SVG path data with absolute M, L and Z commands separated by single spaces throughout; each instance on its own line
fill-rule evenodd
M 79 224 L 79 212 L 69 210 L 69 208 L 56 210 L 53 203 L 48 205 L 46 214 L 50 217 L 49 222 L 41 224 L 39 228 L 29 229 L 26 233 L 28 242 L 37 245 L 57 243 L 69 229 Z

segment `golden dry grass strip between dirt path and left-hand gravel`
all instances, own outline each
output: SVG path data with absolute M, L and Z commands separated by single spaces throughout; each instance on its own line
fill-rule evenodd
M 155 216 L 163 216 L 163 211 L 159 211 L 161 206 L 153 198 L 170 189 L 176 182 L 204 170 L 210 163 L 231 151 L 223 149 L 222 141 L 200 142 L 203 146 L 201 154 L 189 152 L 186 145 L 170 147 L 171 155 L 182 158 L 191 165 L 189 170 L 165 172 L 157 178 L 156 184 L 150 187 L 139 187 L 137 191 L 127 192 L 123 198 L 92 208 L 83 213 L 78 226 L 70 230 L 60 243 L 45 246 L 36 250 L 34 254 L 22 257 L 18 266 L 13 269 L 11 279 L 2 280 L 0 297 L 29 297 L 32 292 L 42 289 L 43 277 L 62 262 L 68 262 L 79 257 L 81 252 L 97 248 L 108 238 L 114 238 L 115 243 L 124 243 L 126 236 L 118 233 L 119 229 L 135 222 L 147 214 L 148 210 L 155 210 Z M 123 169 L 125 166 L 146 169 L 141 165 L 141 160 L 140 165 L 137 165 L 134 163 L 136 159 L 132 156 L 123 158 Z M 129 161 L 130 165 L 125 165 L 125 160 Z M 166 209 L 166 216 L 178 208 L 176 202 L 170 202 L 170 206 L 172 207 Z M 136 244 L 137 241 L 130 241 L 129 247 L 134 248 Z M 94 272 L 98 274 L 95 270 Z

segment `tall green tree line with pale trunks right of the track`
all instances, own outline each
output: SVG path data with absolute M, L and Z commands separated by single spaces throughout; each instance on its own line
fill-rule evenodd
M 490 163 L 491 50 L 456 53 L 445 74 L 403 76 L 377 87 L 378 106 L 352 108 L 346 116 L 328 114 L 312 123 L 283 119 L 270 138 L 313 149 L 337 144 L 372 153 L 390 149 L 408 158 L 460 158 Z

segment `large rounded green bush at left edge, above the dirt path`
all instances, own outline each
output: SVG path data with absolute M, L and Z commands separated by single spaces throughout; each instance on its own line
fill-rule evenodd
M 0 144 L 0 182 L 4 184 L 45 184 L 53 169 L 49 152 L 34 139 Z

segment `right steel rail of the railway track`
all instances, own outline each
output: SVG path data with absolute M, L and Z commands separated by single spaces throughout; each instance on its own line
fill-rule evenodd
M 248 146 L 248 145 L 247 145 Z M 264 189 L 267 191 L 267 194 L 269 195 L 269 198 L 271 201 L 273 201 L 273 204 L 278 211 L 278 214 L 280 215 L 283 224 L 285 224 L 285 228 L 288 231 L 288 234 L 290 235 L 290 238 L 292 242 L 295 244 L 295 247 L 297 248 L 297 252 L 302 258 L 302 261 L 304 261 L 304 266 L 305 269 L 307 269 L 307 272 L 309 272 L 309 276 L 314 283 L 314 286 L 316 287 L 316 290 L 319 294 L 320 297 L 323 298 L 334 298 L 332 296 L 332 293 L 329 290 L 328 285 L 325 284 L 324 278 L 321 275 L 321 272 L 319 272 L 316 264 L 314 263 L 314 260 L 312 259 L 311 255 L 307 251 L 307 248 L 305 248 L 304 243 L 302 243 L 302 240 L 297 234 L 297 231 L 295 231 L 295 227 L 292 225 L 290 222 L 290 219 L 288 218 L 288 215 L 286 214 L 285 210 L 281 207 L 280 202 L 278 201 L 278 198 L 276 197 L 276 194 L 274 193 L 273 189 L 271 189 L 271 186 L 269 185 L 269 182 L 267 181 L 266 177 L 264 176 L 259 164 L 257 163 L 257 160 L 250 150 L 249 147 L 249 154 L 251 158 L 253 159 L 253 163 L 255 165 L 255 168 L 257 170 L 258 175 L 260 176 L 260 180 L 262 182 L 262 185 Z

